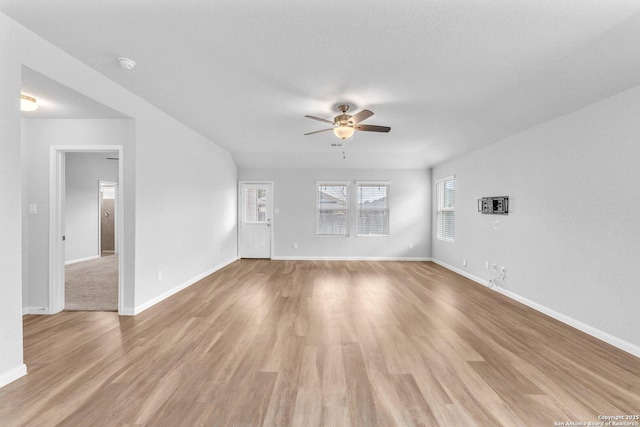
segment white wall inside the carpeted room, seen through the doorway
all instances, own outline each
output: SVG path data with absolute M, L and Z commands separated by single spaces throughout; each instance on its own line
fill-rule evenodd
M 99 257 L 100 184 L 118 182 L 117 152 L 67 153 L 65 159 L 65 261 Z

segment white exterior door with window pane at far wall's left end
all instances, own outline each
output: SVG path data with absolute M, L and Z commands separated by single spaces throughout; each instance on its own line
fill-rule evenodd
M 240 184 L 240 257 L 271 258 L 271 183 Z

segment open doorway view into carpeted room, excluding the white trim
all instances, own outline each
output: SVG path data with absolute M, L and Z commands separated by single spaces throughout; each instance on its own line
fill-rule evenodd
M 117 154 L 66 154 L 66 311 L 118 311 L 117 179 Z

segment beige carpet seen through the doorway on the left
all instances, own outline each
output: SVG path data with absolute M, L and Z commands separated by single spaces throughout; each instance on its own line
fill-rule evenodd
M 118 257 L 67 265 L 64 293 L 65 310 L 118 311 Z

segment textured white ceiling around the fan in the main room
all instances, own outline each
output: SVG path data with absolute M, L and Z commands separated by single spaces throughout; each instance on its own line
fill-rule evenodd
M 0 0 L 240 167 L 422 168 L 640 84 L 638 0 Z M 116 57 L 137 62 L 121 69 Z M 336 104 L 375 115 L 347 159 Z

